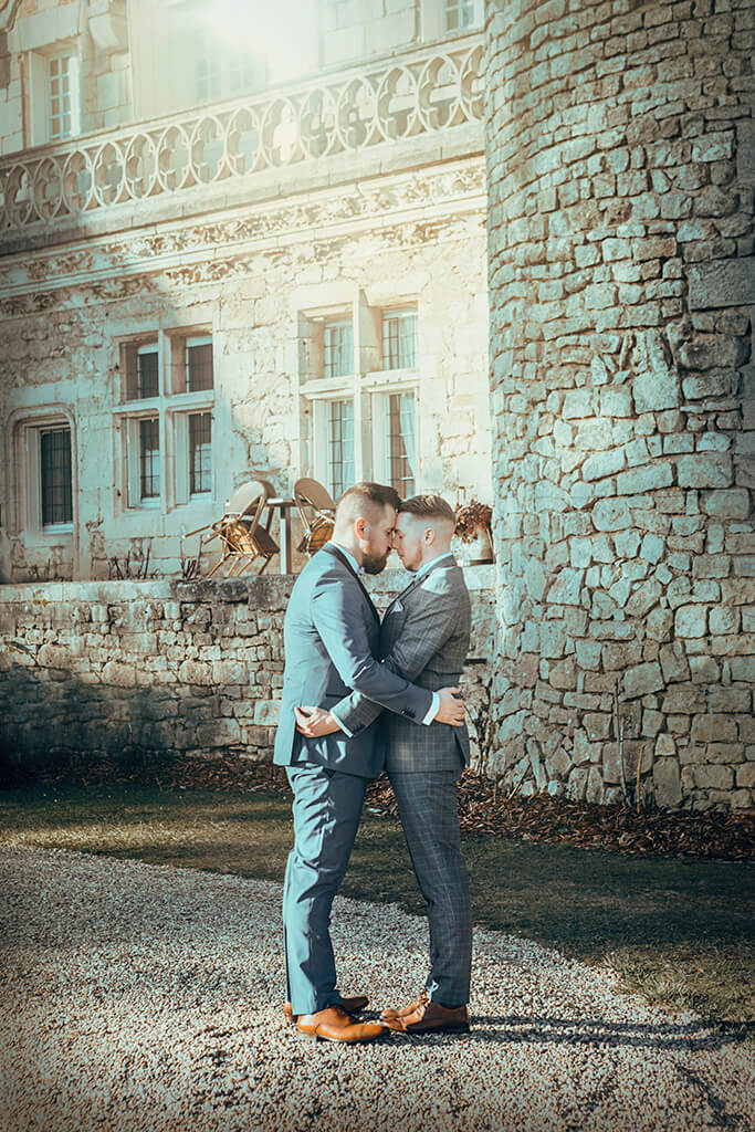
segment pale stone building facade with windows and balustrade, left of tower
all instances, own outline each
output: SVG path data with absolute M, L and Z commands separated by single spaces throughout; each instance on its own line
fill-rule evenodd
M 178 574 L 249 479 L 489 498 L 477 6 L 225 7 L 5 7 L 6 581 Z

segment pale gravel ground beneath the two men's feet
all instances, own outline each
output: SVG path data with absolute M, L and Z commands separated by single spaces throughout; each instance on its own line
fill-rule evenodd
M 755 1127 L 753 1055 L 610 971 L 478 932 L 470 1035 L 285 1026 L 276 884 L 0 847 L 1 1132 Z M 403 1003 L 426 921 L 338 899 L 342 989 Z

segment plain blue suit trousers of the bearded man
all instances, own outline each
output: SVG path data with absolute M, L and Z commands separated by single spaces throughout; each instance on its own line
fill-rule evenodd
M 359 827 L 367 779 L 312 763 L 286 767 L 293 790 L 293 849 L 283 889 L 288 1001 L 294 1014 L 337 1005 L 331 907 Z

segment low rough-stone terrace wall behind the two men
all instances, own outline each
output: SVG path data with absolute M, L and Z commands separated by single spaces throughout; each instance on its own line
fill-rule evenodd
M 492 576 L 466 574 L 474 624 L 463 686 L 477 734 L 489 718 Z M 272 758 L 293 582 L 3 586 L 0 754 L 27 765 L 81 753 Z M 405 574 L 369 584 L 384 609 Z

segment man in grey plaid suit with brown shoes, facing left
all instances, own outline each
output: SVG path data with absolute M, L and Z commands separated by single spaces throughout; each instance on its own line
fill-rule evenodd
M 471 607 L 451 552 L 452 508 L 440 496 L 415 496 L 398 508 L 394 546 L 414 574 L 388 607 L 379 653 L 386 669 L 428 689 L 457 684 L 469 650 Z M 301 723 L 310 736 L 341 726 L 369 727 L 381 707 L 361 691 Z M 418 727 L 384 712 L 385 762 L 420 890 L 428 903 L 430 974 L 419 997 L 384 1011 L 391 1029 L 409 1034 L 469 1030 L 472 919 L 460 848 L 456 783 L 469 762 L 465 727 Z

